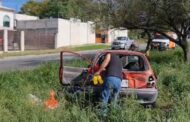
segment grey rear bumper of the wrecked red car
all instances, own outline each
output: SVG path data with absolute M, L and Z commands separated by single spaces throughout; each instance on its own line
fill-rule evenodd
M 140 104 L 152 104 L 156 102 L 158 96 L 158 90 L 156 88 L 144 88 L 144 89 L 130 89 L 121 88 L 120 94 L 122 96 L 134 95 L 137 97 Z

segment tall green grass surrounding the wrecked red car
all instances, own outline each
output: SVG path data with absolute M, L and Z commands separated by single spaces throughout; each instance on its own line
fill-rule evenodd
M 182 62 L 181 50 L 151 52 L 151 64 L 158 75 L 157 107 L 144 108 L 135 100 L 120 99 L 120 108 L 111 109 L 108 116 L 99 116 L 97 106 L 84 106 L 82 96 L 73 102 L 57 97 L 59 107 L 46 110 L 28 98 L 33 94 L 42 101 L 49 91 L 58 91 L 58 64 L 48 63 L 31 71 L 0 74 L 0 121 L 30 122 L 189 122 L 190 64 Z M 71 63 L 72 64 L 72 63 Z M 72 64 L 73 65 L 73 64 Z

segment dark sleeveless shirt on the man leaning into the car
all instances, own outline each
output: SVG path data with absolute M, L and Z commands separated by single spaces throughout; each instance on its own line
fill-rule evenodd
M 122 62 L 118 55 L 111 54 L 111 59 L 106 67 L 105 76 L 115 76 L 122 79 Z

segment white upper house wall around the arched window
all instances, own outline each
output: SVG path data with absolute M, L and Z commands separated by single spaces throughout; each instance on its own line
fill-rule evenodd
M 5 11 L 3 9 L 0 9 L 0 28 L 7 28 L 3 27 L 3 18 L 7 15 L 10 18 L 10 27 L 8 29 L 13 30 L 14 29 L 14 12 L 13 11 Z

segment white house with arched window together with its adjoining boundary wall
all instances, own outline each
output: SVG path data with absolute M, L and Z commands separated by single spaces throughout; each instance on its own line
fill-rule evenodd
M 39 19 L 17 14 L 0 4 L 0 51 L 55 49 L 64 46 L 94 44 L 93 22 L 79 19 Z

